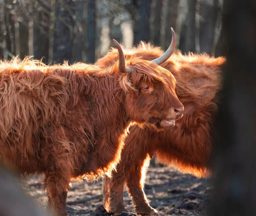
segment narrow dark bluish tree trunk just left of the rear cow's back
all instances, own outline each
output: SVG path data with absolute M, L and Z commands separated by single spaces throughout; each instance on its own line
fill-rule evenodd
M 96 3 L 88 0 L 87 4 L 87 63 L 95 62 L 96 48 Z

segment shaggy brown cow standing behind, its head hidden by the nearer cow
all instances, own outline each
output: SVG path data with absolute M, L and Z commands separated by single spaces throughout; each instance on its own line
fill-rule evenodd
M 142 56 L 152 60 L 163 54 L 160 48 L 144 44 L 124 51 L 127 59 Z M 98 60 L 99 67 L 110 66 L 118 58 L 116 49 Z M 143 191 L 149 160 L 156 155 L 159 162 L 175 165 L 180 171 L 195 176 L 207 176 L 206 163 L 211 151 L 210 125 L 217 111 L 216 93 L 221 87 L 221 65 L 225 59 L 205 54 L 184 56 L 178 52 L 161 66 L 171 71 L 177 80 L 176 93 L 184 105 L 184 116 L 175 128 L 156 132 L 152 128 L 130 128 L 122 151 L 121 162 L 113 179 L 104 179 L 104 206 L 108 212 L 125 211 L 123 188 L 126 182 L 141 215 L 158 215 L 150 207 Z

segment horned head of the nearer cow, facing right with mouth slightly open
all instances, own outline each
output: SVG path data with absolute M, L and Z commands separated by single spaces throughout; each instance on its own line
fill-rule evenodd
M 131 120 L 137 123 L 153 124 L 157 129 L 172 127 L 175 120 L 183 115 L 183 104 L 175 93 L 175 77 L 159 66 L 165 62 L 175 49 L 175 33 L 172 29 L 172 43 L 159 58 L 147 61 L 140 57 L 125 60 L 119 43 L 118 67 L 120 85 L 127 96 L 125 107 Z

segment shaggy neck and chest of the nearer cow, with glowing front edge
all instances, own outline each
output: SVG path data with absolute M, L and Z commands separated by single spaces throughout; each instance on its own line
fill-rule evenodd
M 88 163 L 80 168 L 81 173 L 111 171 L 119 162 L 124 139 L 131 121 L 125 109 L 125 93 L 114 77 L 99 78 L 97 89 L 87 91 L 89 112 L 93 116 L 94 144 L 88 152 Z M 90 102 L 90 103 L 89 103 Z M 96 126 L 97 125 L 97 126 Z

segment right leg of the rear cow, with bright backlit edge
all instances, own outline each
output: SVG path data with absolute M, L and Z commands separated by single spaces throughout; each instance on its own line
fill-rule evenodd
M 134 207 L 138 215 L 158 216 L 157 210 L 149 205 L 144 193 L 145 173 L 148 168 L 150 157 L 137 164 L 134 171 L 127 173 L 127 188 L 134 202 Z

